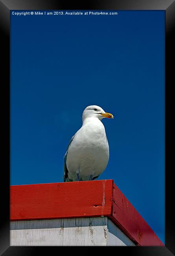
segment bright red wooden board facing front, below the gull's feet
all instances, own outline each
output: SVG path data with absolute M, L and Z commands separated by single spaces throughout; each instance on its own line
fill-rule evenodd
M 109 216 L 113 180 L 11 186 L 10 220 Z

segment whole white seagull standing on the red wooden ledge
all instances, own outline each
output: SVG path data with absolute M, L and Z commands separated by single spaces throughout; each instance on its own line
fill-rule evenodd
M 83 111 L 83 125 L 70 139 L 64 155 L 64 182 L 95 180 L 106 169 L 109 145 L 103 118 L 113 118 L 99 106 Z

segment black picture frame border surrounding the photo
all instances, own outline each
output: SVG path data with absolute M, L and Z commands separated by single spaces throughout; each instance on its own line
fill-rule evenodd
M 175 230 L 173 229 L 173 185 L 174 180 L 171 173 L 175 170 L 175 100 L 173 91 L 174 65 L 175 57 L 175 0 L 101 0 L 87 2 L 70 2 L 63 0 L 0 0 L 0 30 L 2 41 L 1 58 L 3 71 L 1 72 L 2 97 L 0 103 L 1 109 L 1 145 L 3 160 L 3 182 L 1 188 L 2 202 L 2 221 L 0 222 L 0 255 L 37 255 L 41 252 L 56 254 L 60 252 L 60 247 L 12 247 L 9 242 L 9 180 L 10 180 L 10 10 L 42 10 L 42 9 L 59 9 L 59 10 L 164 10 L 166 17 L 165 24 L 165 247 L 115 247 L 114 250 L 131 255 L 175 255 Z M 2 56 L 1 54 L 1 56 Z M 172 64 L 171 64 L 172 63 Z M 68 248 L 68 247 L 66 247 Z M 64 252 L 65 249 L 64 247 Z M 93 248 L 93 249 L 92 249 Z M 125 249 L 124 249 L 125 248 Z M 135 249 L 137 248 L 137 249 Z M 77 253 L 77 247 L 69 247 Z M 92 249 L 98 253 L 99 247 L 79 247 L 81 254 L 87 255 Z M 104 253 L 108 248 L 103 247 Z M 96 251 L 98 250 L 98 251 Z M 105 251 L 106 250 L 106 251 Z

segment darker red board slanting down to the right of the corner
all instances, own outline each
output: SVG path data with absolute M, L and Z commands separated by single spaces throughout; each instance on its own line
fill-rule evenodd
M 151 227 L 115 184 L 113 187 L 113 207 L 110 219 L 135 244 L 141 246 L 164 246 Z

